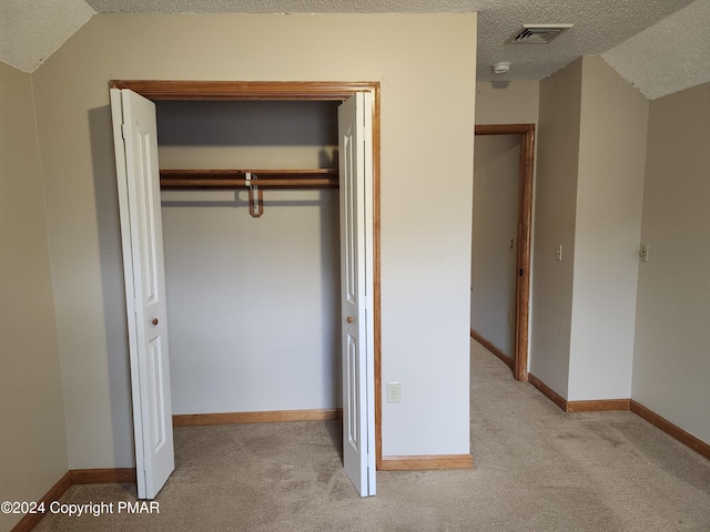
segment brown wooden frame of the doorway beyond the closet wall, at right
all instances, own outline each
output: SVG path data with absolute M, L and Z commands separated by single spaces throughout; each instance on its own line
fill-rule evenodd
M 518 168 L 518 246 L 516 250 L 516 326 L 513 375 L 528 380 L 530 314 L 530 249 L 532 242 L 532 180 L 535 173 L 535 124 L 476 125 L 476 135 L 521 135 Z M 474 155 L 475 156 L 475 155 Z M 504 360 L 507 362 L 507 360 Z

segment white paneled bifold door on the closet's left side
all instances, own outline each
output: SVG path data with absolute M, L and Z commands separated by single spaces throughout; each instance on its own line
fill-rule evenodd
M 175 469 L 155 105 L 111 90 L 131 360 L 138 497 Z

